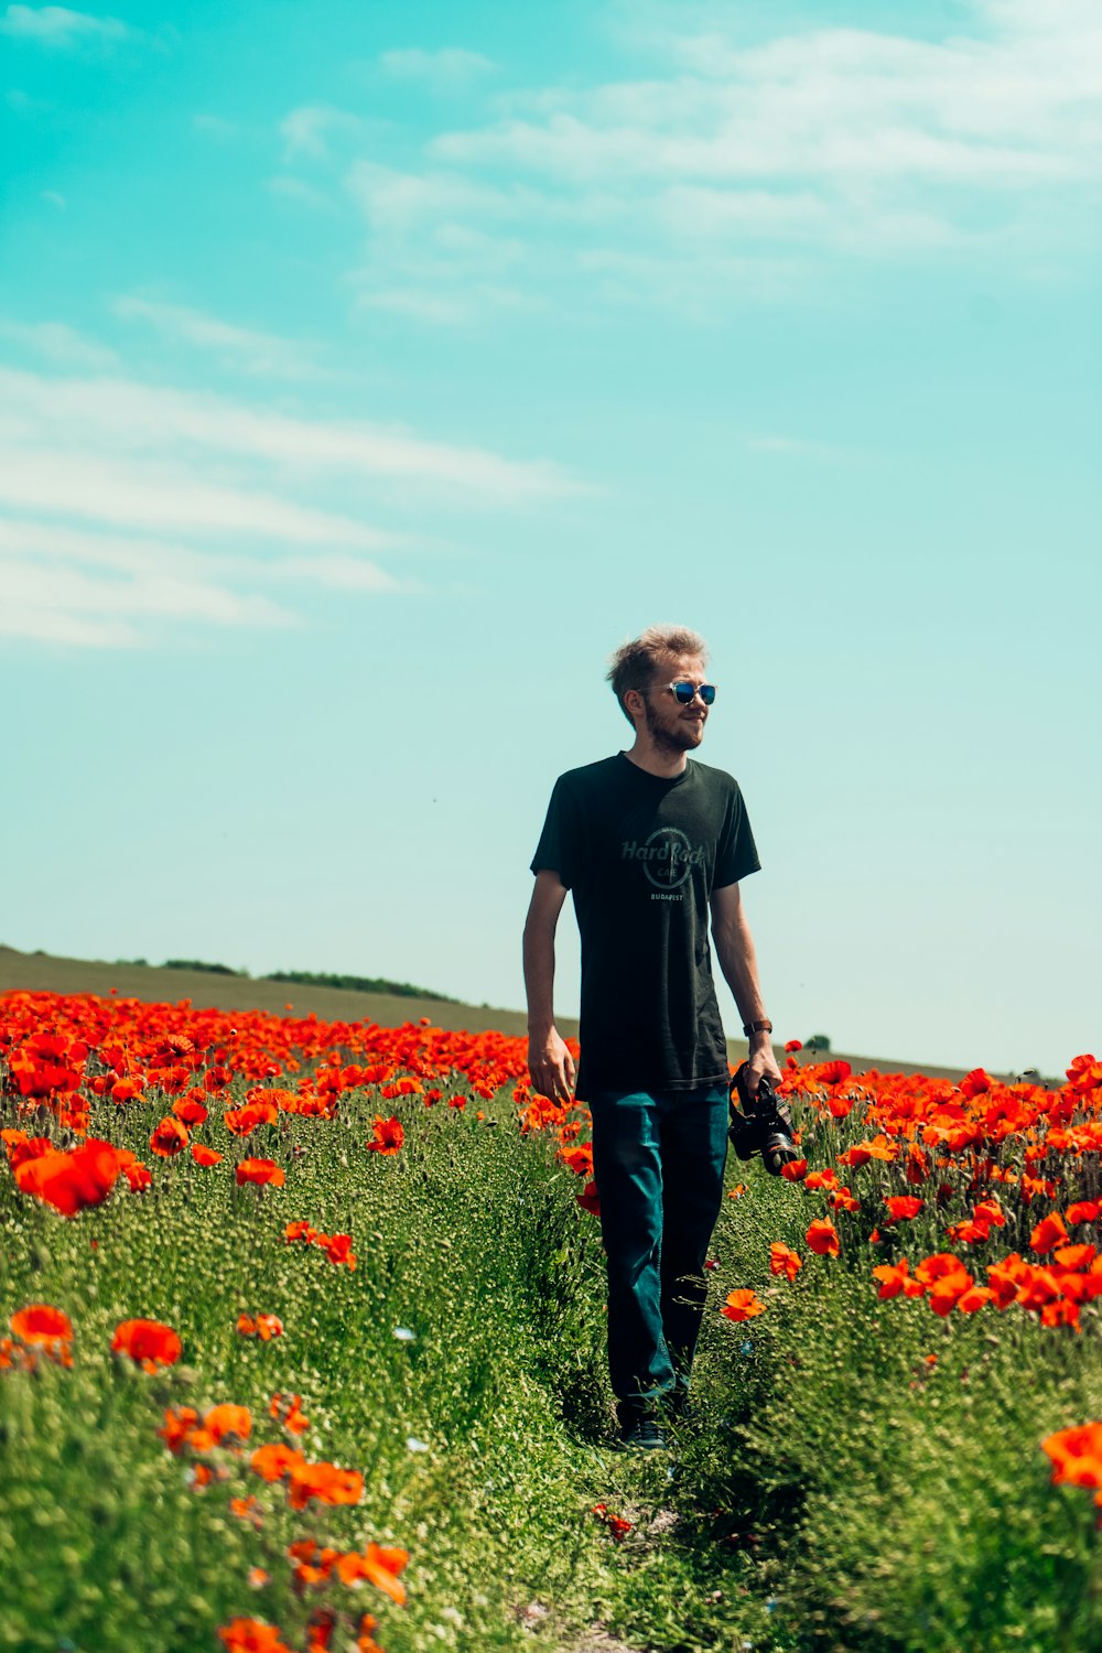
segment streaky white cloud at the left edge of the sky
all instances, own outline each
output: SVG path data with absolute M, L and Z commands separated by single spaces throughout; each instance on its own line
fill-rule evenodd
M 69 357 L 86 344 L 61 324 L 21 331 Z M 301 625 L 324 593 L 423 588 L 380 562 L 420 544 L 378 521 L 395 504 L 408 521 L 433 494 L 512 506 L 573 486 L 400 428 L 0 367 L 0 633 L 135 648 Z

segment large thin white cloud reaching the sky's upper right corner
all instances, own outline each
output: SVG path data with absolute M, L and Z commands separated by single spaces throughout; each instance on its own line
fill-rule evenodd
M 1026 271 L 1041 253 L 1074 268 L 1090 248 L 1094 0 L 971 0 L 943 38 L 748 40 L 727 0 L 620 17 L 648 76 L 502 91 L 420 162 L 349 167 L 368 235 L 360 302 L 466 322 L 501 291 L 591 299 L 601 271 L 598 299 L 707 312 L 768 302 L 777 279 L 818 298 L 829 260 Z

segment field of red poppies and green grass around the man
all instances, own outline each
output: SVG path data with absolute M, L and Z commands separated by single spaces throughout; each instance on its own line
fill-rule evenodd
M 2 995 L 0 1648 L 1102 1646 L 1102 1063 L 783 1091 L 633 1458 L 522 1040 Z

